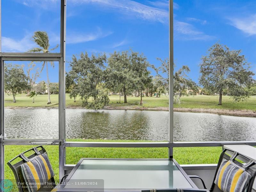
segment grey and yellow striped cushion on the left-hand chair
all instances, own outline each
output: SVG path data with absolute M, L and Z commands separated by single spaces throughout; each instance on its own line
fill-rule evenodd
M 54 176 L 52 165 L 46 153 L 36 156 L 21 165 L 21 172 L 28 191 L 37 191 Z

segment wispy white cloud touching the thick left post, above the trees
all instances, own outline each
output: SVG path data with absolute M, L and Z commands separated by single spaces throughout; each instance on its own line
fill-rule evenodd
M 113 32 L 102 32 L 100 28 L 96 32 L 93 33 L 77 33 L 77 32 L 70 32 L 67 35 L 67 44 L 76 44 L 76 43 L 84 43 L 88 41 L 94 41 L 99 38 L 103 38 L 106 36 L 111 35 Z

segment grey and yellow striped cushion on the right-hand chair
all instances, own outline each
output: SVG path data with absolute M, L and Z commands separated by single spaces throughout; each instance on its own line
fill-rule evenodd
M 223 192 L 244 192 L 252 176 L 243 167 L 223 159 L 214 183 Z

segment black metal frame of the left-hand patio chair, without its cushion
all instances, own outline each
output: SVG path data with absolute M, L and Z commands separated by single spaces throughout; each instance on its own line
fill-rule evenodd
M 40 150 L 38 150 L 38 148 L 41 148 Z M 29 151 L 34 151 L 35 153 L 26 157 L 24 154 L 29 152 Z M 47 153 L 46 150 L 43 148 L 42 145 L 28 149 L 27 151 L 24 151 L 23 153 L 20 153 L 19 155 L 17 155 L 16 157 L 14 157 L 12 160 L 10 160 L 7 164 L 8 166 L 11 168 L 14 177 L 16 179 L 16 183 L 19 189 L 19 192 L 23 192 L 23 191 L 28 191 L 27 186 L 25 184 L 25 180 L 23 178 L 23 175 L 21 173 L 21 165 L 26 163 L 27 161 L 29 161 L 30 159 L 33 159 L 34 157 L 43 154 L 43 153 Z M 14 161 L 17 158 L 21 158 L 22 160 L 19 161 L 18 163 L 15 164 L 11 164 L 12 161 Z M 48 184 L 50 183 L 50 184 Z M 46 188 L 40 188 L 38 191 L 47 191 L 47 190 L 52 190 L 52 188 L 54 188 L 56 186 L 55 184 L 55 180 L 54 177 L 52 177 L 49 181 L 47 181 L 47 183 L 45 185 L 48 185 Z

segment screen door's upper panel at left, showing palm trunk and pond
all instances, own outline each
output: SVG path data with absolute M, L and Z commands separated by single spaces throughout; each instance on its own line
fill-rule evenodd
M 51 77 L 48 75 L 50 97 L 48 97 L 47 73 L 56 74 Z M 58 73 L 59 62 L 4 62 L 4 131 L 6 139 L 58 140 Z M 16 90 L 17 93 L 12 93 L 12 90 Z M 51 101 L 49 104 L 47 104 L 48 99 Z M 39 105 L 43 107 L 39 108 Z

